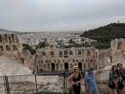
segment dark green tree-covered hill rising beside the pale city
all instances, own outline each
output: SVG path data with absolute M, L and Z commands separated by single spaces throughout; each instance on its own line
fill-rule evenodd
M 115 38 L 125 38 L 125 23 L 111 23 L 93 30 L 85 31 L 81 37 L 97 40 L 93 46 L 99 49 L 110 47 L 110 42 Z

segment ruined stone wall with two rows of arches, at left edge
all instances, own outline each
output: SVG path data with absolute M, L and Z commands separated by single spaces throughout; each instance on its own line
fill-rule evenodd
M 19 56 L 20 49 L 17 33 L 0 32 L 0 54 Z

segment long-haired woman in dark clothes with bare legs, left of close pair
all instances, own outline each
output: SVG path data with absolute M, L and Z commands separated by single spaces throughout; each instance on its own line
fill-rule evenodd
M 110 94 L 117 94 L 117 86 L 119 81 L 119 75 L 117 73 L 117 66 L 113 65 L 109 72 L 108 86 L 110 88 Z

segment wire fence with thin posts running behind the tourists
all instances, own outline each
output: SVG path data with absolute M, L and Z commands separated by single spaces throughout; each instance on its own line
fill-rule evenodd
M 34 75 L 16 75 L 0 77 L 0 94 L 68 94 L 69 83 L 66 78 L 71 72 L 41 73 Z M 84 73 L 83 73 L 84 74 Z M 103 71 L 96 77 L 100 94 L 109 94 L 107 85 L 109 71 Z M 84 78 L 81 92 L 85 91 Z

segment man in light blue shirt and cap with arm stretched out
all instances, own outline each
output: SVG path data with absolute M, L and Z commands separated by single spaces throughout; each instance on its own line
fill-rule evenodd
M 99 94 L 96 85 L 95 77 L 96 74 L 101 72 L 101 70 L 94 70 L 93 68 L 88 68 L 88 72 L 85 73 L 85 91 L 88 94 Z

